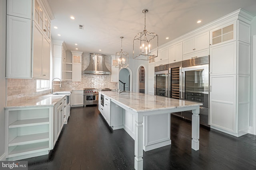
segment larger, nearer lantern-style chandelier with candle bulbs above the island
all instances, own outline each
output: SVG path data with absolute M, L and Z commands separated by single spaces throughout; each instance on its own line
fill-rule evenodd
M 147 12 L 147 9 L 142 10 L 142 13 L 145 15 L 144 31 L 139 32 L 133 39 L 133 59 L 150 60 L 158 56 L 158 35 L 154 32 L 150 33 L 146 30 Z M 134 45 L 134 43 L 136 44 Z M 134 54 L 134 46 L 138 46 L 138 50 L 140 51 L 138 55 Z M 156 53 L 151 53 L 153 48 L 156 49 Z

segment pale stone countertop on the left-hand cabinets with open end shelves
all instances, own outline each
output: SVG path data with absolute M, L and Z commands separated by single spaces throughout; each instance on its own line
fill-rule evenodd
M 57 95 L 55 93 L 58 93 Z M 38 96 L 37 98 L 30 100 L 22 100 L 20 102 L 7 105 L 4 108 L 18 108 L 18 107 L 44 107 L 44 106 L 54 106 L 58 103 L 62 98 L 69 94 L 70 91 L 62 91 L 62 92 L 54 92 L 54 94 L 47 94 L 43 96 Z

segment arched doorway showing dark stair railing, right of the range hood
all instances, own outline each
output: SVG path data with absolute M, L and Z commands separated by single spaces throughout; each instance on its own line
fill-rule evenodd
M 124 84 L 124 86 L 122 86 L 122 84 Z M 119 71 L 119 85 L 120 88 L 121 86 L 123 88 L 121 90 L 132 92 L 132 70 L 129 67 L 122 68 Z

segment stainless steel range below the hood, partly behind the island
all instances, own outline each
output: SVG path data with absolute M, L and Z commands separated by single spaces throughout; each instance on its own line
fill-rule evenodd
M 110 91 L 109 88 L 95 89 L 95 88 L 84 88 L 84 106 L 91 104 L 98 104 L 99 92 Z

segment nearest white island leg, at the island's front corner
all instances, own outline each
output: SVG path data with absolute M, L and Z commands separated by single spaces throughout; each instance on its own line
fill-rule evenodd
M 135 141 L 134 141 L 134 168 L 143 169 L 143 116 L 140 113 L 135 114 Z

